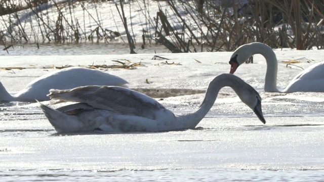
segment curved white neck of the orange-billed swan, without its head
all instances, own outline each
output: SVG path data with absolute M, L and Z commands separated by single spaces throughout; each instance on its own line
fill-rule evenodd
M 278 62 L 273 50 L 266 44 L 254 43 L 250 49 L 252 55 L 261 54 L 267 62 L 267 71 L 265 74 L 264 91 L 279 92 L 277 88 Z M 251 55 L 251 56 L 252 56 Z

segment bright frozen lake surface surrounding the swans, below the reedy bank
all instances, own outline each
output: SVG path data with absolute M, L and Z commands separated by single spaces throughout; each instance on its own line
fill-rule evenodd
M 319 50 L 275 53 L 279 61 L 279 89 L 301 68 L 322 61 L 323 57 Z M 170 59 L 169 64 L 164 59 L 152 59 L 155 55 Z M 1 56 L 4 60 L 1 67 L 9 69 L 1 70 L 0 76 L 7 90 L 17 93 L 31 80 L 53 71 L 49 68 L 53 65 L 112 65 L 116 64 L 113 60 L 127 60 L 142 66 L 106 71 L 128 80 L 130 88 L 147 88 L 151 92 L 175 88 L 178 93 L 169 93 L 175 96 L 185 89 L 191 89 L 192 93 L 204 90 L 215 76 L 229 72 L 230 55 L 221 52 Z M 296 66 L 281 63 L 288 60 L 300 63 Z M 221 90 L 214 107 L 196 129 L 170 132 L 56 134 L 37 104 L 1 102 L 0 179 L 322 180 L 324 93 L 264 93 L 266 63 L 259 55 L 254 61 L 242 65 L 235 74 L 260 92 L 266 124 L 227 87 Z M 194 111 L 204 98 L 204 94 L 194 94 L 160 99 L 162 95 L 156 99 L 175 113 Z

